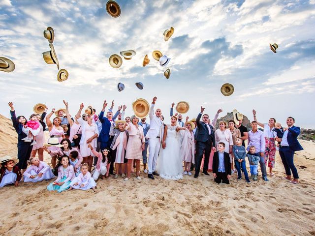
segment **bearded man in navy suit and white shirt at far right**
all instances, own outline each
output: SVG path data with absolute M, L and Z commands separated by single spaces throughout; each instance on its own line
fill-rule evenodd
M 286 179 L 290 180 L 291 183 L 299 183 L 299 175 L 297 174 L 297 169 L 294 165 L 293 156 L 294 151 L 300 151 L 303 150 L 303 148 L 297 140 L 297 136 L 299 136 L 301 132 L 300 127 L 294 126 L 294 122 L 294 118 L 286 118 L 287 127 L 284 128 L 284 136 L 282 139 L 277 137 L 276 140 L 281 142 L 279 154 L 281 156 L 282 163 L 284 164 Z M 291 171 L 293 174 L 293 180 L 291 178 Z

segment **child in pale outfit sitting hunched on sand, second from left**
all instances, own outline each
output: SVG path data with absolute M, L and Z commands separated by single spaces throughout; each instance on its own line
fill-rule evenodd
M 47 163 L 40 161 L 38 157 L 31 157 L 28 163 L 31 166 L 23 173 L 24 182 L 39 182 L 55 177 Z

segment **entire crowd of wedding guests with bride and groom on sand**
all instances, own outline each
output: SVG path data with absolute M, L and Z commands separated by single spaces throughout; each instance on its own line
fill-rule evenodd
M 114 178 L 121 176 L 127 181 L 133 173 L 136 179 L 141 179 L 141 159 L 143 171 L 150 179 L 160 176 L 176 180 L 183 175 L 191 176 L 193 170 L 193 177 L 197 178 L 202 169 L 206 176 L 209 176 L 208 171 L 212 171 L 217 183 L 229 183 L 235 171 L 237 179 L 242 179 L 243 172 L 245 181 L 250 183 L 250 179 L 257 180 L 259 163 L 262 179 L 268 181 L 266 165 L 268 162 L 269 175 L 273 176 L 276 149 L 279 149 L 284 165 L 285 179 L 295 184 L 299 182 L 293 155 L 294 151 L 303 148 L 297 140 L 300 128 L 294 126 L 294 118 L 288 117 L 287 127 L 283 128 L 275 118 L 270 118 L 268 124 L 258 122 L 253 110 L 252 130 L 248 131 L 242 125 L 243 116 L 237 114 L 228 122 L 220 121 L 216 130 L 221 109 L 211 122 L 201 106 L 197 118 L 189 120 L 187 117 L 184 122 L 181 114 L 173 115 L 173 103 L 170 124 L 165 124 L 161 110 L 155 110 L 156 101 L 157 97 L 154 97 L 149 112 L 150 123 L 146 118 L 125 118 L 126 105 L 119 106 L 113 115 L 114 101 L 106 115 L 106 100 L 98 116 L 90 106 L 82 114 L 82 103 L 74 118 L 69 114 L 68 103 L 63 101 L 65 109 L 52 109 L 47 114 L 46 108 L 41 115 L 33 114 L 30 120 L 24 116 L 16 117 L 10 102 L 11 119 L 18 134 L 18 157 L 0 158 L 0 187 L 7 184 L 17 186 L 23 173 L 24 182 L 58 176 L 48 185 L 48 190 L 95 191 L 95 181 L 99 177 L 114 175 Z M 53 114 L 56 117 L 51 120 Z M 47 142 L 44 138 L 46 125 L 50 135 Z M 263 131 L 258 129 L 258 125 L 263 127 Z M 245 140 L 248 141 L 247 149 Z M 52 168 L 43 161 L 43 151 L 51 155 Z

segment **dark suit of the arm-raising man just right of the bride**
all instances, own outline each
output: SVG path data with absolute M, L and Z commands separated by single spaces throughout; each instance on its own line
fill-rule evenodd
M 206 126 L 206 123 L 200 121 L 201 116 L 202 114 L 199 113 L 196 118 L 197 131 L 195 134 L 195 140 L 197 142 L 195 155 L 195 177 L 199 175 L 203 153 L 205 154 L 203 172 L 207 172 L 211 148 L 216 146 L 215 129 L 211 126 L 211 124 L 208 123 L 211 129 L 211 135 L 209 135 L 209 130 Z

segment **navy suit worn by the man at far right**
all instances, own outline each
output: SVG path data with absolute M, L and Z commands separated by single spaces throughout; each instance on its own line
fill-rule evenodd
M 302 146 L 297 140 L 297 136 L 299 136 L 300 132 L 300 127 L 290 127 L 287 131 L 287 143 L 289 146 L 280 146 L 279 150 L 282 163 L 284 164 L 285 174 L 290 176 L 292 171 L 293 178 L 299 178 L 297 169 L 293 162 L 293 156 L 294 151 L 303 150 Z

